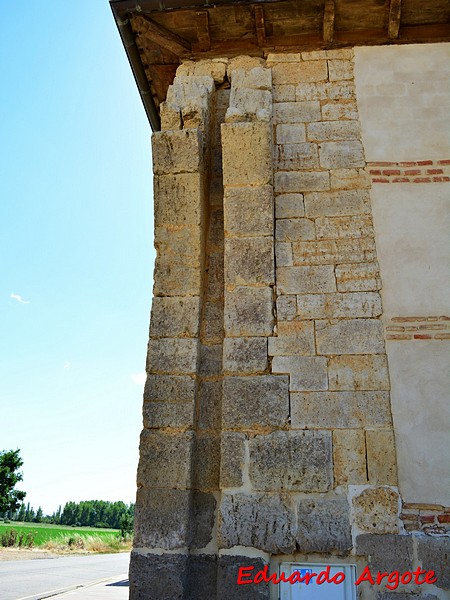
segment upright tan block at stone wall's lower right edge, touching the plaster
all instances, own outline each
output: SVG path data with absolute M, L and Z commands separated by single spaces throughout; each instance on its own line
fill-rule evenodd
M 366 431 L 367 472 L 372 485 L 397 485 L 397 456 L 392 429 Z

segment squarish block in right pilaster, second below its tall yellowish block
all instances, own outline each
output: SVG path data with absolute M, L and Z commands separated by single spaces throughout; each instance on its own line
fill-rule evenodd
M 275 283 L 272 237 L 225 240 L 225 283 L 227 285 L 271 285 Z

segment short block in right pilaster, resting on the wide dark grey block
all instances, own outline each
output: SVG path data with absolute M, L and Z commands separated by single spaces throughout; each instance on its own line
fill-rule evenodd
M 223 341 L 224 373 L 262 373 L 266 369 L 266 338 L 225 338 Z

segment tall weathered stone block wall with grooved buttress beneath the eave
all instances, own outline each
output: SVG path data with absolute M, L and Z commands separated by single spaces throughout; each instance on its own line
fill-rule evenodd
M 353 50 L 184 63 L 161 117 L 131 598 L 277 598 L 238 568 L 398 553 L 443 598 L 448 538 L 400 519 Z

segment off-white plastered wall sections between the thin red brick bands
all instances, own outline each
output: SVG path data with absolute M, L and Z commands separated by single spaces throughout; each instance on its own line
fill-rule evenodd
M 450 44 L 355 48 L 355 83 L 368 163 L 450 158 Z M 386 326 L 449 316 L 450 182 L 374 182 L 371 196 Z M 386 346 L 403 499 L 448 506 L 450 340 Z

